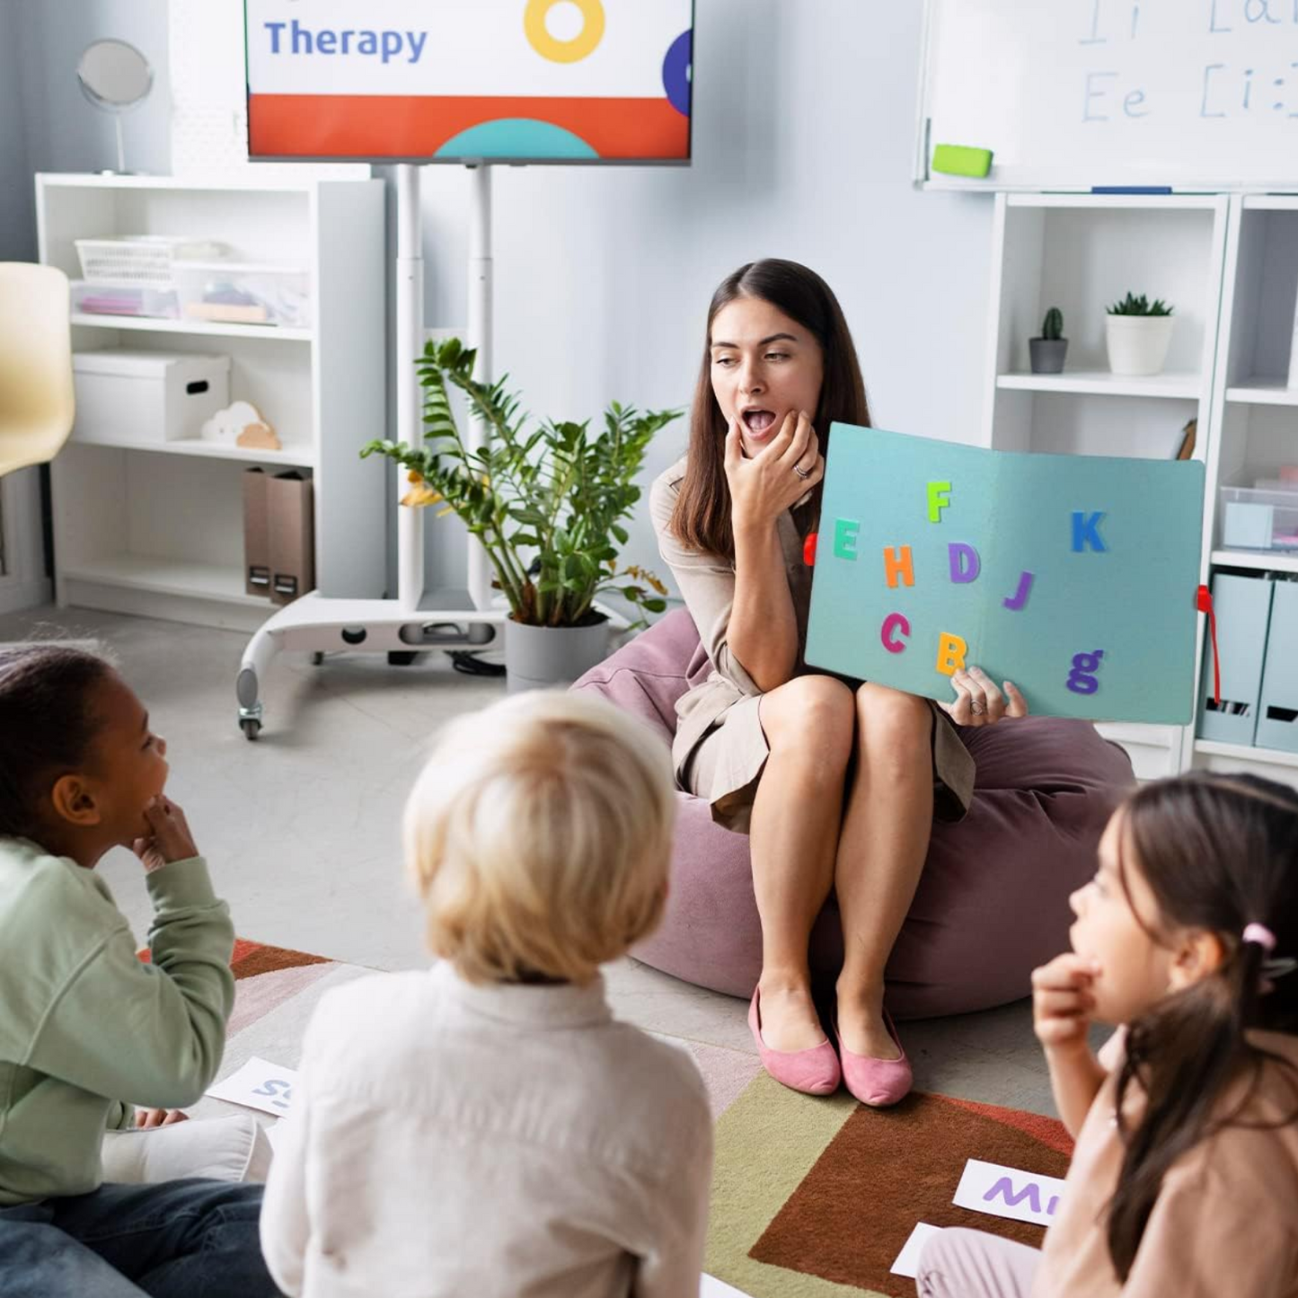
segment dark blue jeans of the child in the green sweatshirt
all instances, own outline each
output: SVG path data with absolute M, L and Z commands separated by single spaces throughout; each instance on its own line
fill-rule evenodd
M 260 1185 L 164 1181 L 0 1208 L 4 1298 L 275 1298 Z

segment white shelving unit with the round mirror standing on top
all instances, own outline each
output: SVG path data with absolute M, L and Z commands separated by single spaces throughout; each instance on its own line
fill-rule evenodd
M 244 593 L 243 471 L 309 471 L 323 594 L 383 593 L 384 474 L 358 448 L 386 414 L 383 182 L 275 177 L 36 177 L 40 260 L 80 278 L 75 239 L 193 235 L 241 260 L 310 269 L 314 324 L 283 328 L 73 315 L 73 349 L 222 353 L 230 400 L 253 402 L 283 449 L 199 439 L 73 439 L 52 466 L 60 605 L 256 630 L 275 609 Z

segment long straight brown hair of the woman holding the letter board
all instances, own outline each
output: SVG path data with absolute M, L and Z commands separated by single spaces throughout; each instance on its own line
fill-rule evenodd
M 729 485 L 726 482 L 726 419 L 713 393 L 711 343 L 716 313 L 737 297 L 770 302 L 820 344 L 824 379 L 813 424 L 820 439 L 822 456 L 829 452 L 829 424 L 835 421 L 870 424 L 857 349 L 842 308 L 829 286 L 814 270 L 778 257 L 752 261 L 727 275 L 707 308 L 707 336 L 704 339 L 704 360 L 689 417 L 689 456 L 671 530 L 691 549 L 719 554 L 732 563 L 735 535 L 731 530 Z M 815 528 L 820 517 L 822 485 L 816 484 L 811 498 L 796 514 L 803 536 Z

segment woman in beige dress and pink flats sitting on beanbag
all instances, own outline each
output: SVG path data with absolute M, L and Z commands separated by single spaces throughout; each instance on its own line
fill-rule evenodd
M 861 367 L 829 287 L 796 262 L 741 266 L 713 296 L 689 452 L 652 513 L 713 663 L 678 704 L 676 779 L 752 839 L 762 975 L 749 1025 L 778 1081 L 892 1105 L 910 1063 L 884 1010 L 884 966 L 928 853 L 933 816 L 959 819 L 974 761 L 953 720 L 1027 706 L 977 667 L 935 705 L 803 662 L 815 531 L 833 421 L 868 424 Z M 829 889 L 842 916 L 836 1033 L 811 999 L 807 941 Z M 841 1055 L 841 1063 L 840 1063 Z

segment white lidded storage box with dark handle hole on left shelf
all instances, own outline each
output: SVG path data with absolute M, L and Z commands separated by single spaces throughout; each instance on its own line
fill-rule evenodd
M 230 405 L 230 357 L 104 348 L 73 354 L 74 441 L 121 447 L 197 437 Z

